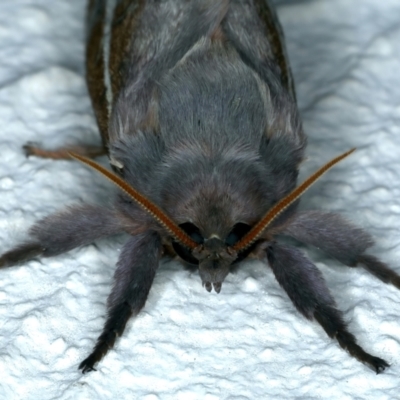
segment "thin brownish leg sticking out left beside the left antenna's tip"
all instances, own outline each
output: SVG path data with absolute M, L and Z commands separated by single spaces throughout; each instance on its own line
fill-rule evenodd
M 26 144 L 24 152 L 27 157 L 36 156 L 40 158 L 51 158 L 53 160 L 71 160 L 70 152 L 80 154 L 81 156 L 96 158 L 104 156 L 107 153 L 107 149 L 104 146 L 69 146 L 61 147 L 54 150 L 46 150 L 40 146 L 36 146 L 32 143 Z

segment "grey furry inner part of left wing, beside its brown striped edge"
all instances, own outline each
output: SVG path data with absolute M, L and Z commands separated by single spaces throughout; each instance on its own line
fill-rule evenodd
M 140 126 L 158 79 L 216 28 L 227 4 L 226 0 L 146 1 L 135 31 L 124 88 L 113 110 L 111 142 Z

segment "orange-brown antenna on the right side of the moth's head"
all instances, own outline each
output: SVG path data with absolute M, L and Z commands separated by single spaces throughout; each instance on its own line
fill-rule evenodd
M 283 211 L 285 211 L 291 204 L 293 204 L 310 186 L 315 183 L 325 172 L 331 169 L 339 161 L 342 161 L 348 155 L 350 155 L 355 149 L 346 151 L 346 153 L 329 161 L 323 167 L 321 167 L 317 172 L 314 172 L 310 177 L 308 177 L 300 186 L 290 192 L 282 200 L 278 201 L 261 220 L 245 235 L 239 242 L 232 246 L 233 250 L 237 252 L 242 251 L 253 244 L 263 233 L 263 231 L 271 224 L 271 222 L 278 217 Z

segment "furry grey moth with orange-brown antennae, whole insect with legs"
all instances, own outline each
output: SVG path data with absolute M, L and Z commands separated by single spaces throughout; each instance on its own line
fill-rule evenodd
M 376 373 L 389 364 L 348 331 L 322 274 L 290 237 L 400 288 L 339 215 L 299 211 L 299 198 L 353 150 L 297 185 L 303 132 L 281 27 L 266 0 L 90 0 L 87 83 L 101 148 L 72 157 L 119 188 L 112 207 L 77 205 L 38 221 L 0 266 L 52 257 L 125 232 L 93 351 L 94 370 L 145 305 L 160 258 L 198 268 L 220 292 L 234 264 L 265 261 L 297 310 Z M 29 154 L 69 157 L 68 149 Z M 108 154 L 112 171 L 91 157 Z

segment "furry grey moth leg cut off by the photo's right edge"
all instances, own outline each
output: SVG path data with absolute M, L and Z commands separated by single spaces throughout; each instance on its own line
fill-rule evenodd
M 282 233 L 321 249 L 349 267 L 361 264 L 382 282 L 400 289 L 400 276 L 376 257 L 365 254 L 374 243 L 372 237 L 337 214 L 299 212 Z

